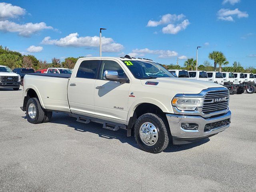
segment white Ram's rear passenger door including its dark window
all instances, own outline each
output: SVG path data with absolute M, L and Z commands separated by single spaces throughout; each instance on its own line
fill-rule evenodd
M 100 60 L 84 60 L 68 83 L 70 110 L 76 114 L 94 114 L 95 81 Z

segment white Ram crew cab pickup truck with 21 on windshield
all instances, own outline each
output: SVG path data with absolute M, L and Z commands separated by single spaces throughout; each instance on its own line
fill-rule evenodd
M 127 130 L 147 152 L 169 140 L 186 144 L 230 126 L 229 91 L 220 84 L 175 78 L 146 59 L 79 58 L 72 74 L 27 74 L 24 102 L 28 122 L 48 122 L 52 112 L 77 121 Z

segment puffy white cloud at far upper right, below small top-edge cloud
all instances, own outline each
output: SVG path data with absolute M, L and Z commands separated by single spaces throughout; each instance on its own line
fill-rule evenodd
M 218 19 L 220 20 L 225 20 L 225 21 L 234 21 L 233 16 L 237 16 L 237 18 L 246 18 L 248 17 L 248 13 L 247 12 L 242 12 L 240 10 L 238 10 L 238 8 L 234 9 L 234 10 L 230 10 L 230 9 L 220 9 L 217 13 Z

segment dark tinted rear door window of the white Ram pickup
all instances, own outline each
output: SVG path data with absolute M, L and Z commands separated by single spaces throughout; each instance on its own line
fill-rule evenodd
M 76 77 L 96 79 L 99 66 L 100 60 L 85 60 L 80 64 Z

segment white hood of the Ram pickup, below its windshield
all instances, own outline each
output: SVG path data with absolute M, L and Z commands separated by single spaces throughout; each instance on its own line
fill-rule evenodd
M 158 82 L 157 85 L 146 84 L 146 82 Z M 154 86 L 156 88 L 163 88 L 167 90 L 177 90 L 177 93 L 197 94 L 202 90 L 214 87 L 223 87 L 217 83 L 207 81 L 193 80 L 188 78 L 156 78 L 141 80 L 143 86 Z

